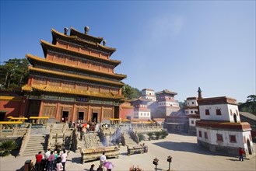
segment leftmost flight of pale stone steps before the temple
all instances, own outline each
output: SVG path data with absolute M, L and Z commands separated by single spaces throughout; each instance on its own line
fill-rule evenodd
M 42 153 L 46 152 L 48 136 L 49 135 L 47 134 L 40 134 L 40 135 L 31 134 L 30 140 L 26 144 L 26 148 L 23 152 L 23 156 L 36 155 L 40 151 Z

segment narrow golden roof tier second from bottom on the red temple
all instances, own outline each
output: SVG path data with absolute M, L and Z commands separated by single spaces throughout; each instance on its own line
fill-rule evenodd
M 96 79 L 96 78 L 89 77 L 89 76 L 75 75 L 75 74 L 70 74 L 70 73 L 65 73 L 65 72 L 56 72 L 56 71 L 51 71 L 51 70 L 42 69 L 42 68 L 33 68 L 32 66 L 29 66 L 29 70 L 35 71 L 35 72 L 44 72 L 44 73 L 52 74 L 52 75 L 61 75 L 61 76 L 69 77 L 69 78 L 86 79 L 86 80 L 90 80 L 90 81 L 94 81 L 94 82 L 106 82 L 106 83 L 117 85 L 117 86 L 124 86 L 123 82 L 114 82 L 114 81 L 107 80 L 107 79 Z

